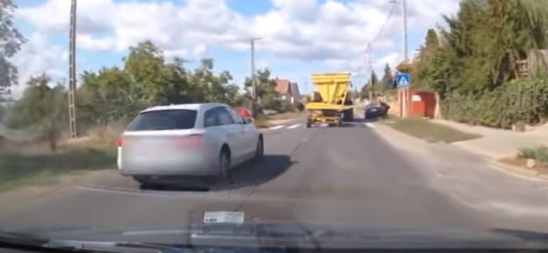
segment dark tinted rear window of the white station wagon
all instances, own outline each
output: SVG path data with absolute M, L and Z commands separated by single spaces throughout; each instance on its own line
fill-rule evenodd
M 176 109 L 147 111 L 139 114 L 129 124 L 128 131 L 192 129 L 196 123 L 197 111 Z

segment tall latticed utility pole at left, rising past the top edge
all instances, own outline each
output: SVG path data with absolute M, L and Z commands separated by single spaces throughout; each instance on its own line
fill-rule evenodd
M 71 138 L 77 137 L 76 131 L 76 0 L 71 1 L 71 30 L 69 35 L 69 124 Z

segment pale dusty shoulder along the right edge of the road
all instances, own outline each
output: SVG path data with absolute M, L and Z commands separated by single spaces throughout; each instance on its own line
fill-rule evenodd
M 541 178 L 512 174 L 459 146 L 429 143 L 384 124 L 377 124 L 375 131 L 421 164 L 433 187 L 462 204 L 507 215 L 548 217 L 548 184 Z

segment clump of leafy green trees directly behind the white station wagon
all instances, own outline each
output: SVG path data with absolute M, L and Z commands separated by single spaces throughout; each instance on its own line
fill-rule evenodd
M 213 59 L 202 59 L 195 70 L 175 58 L 166 62 L 151 42 L 129 49 L 123 68 L 84 71 L 77 90 L 79 129 L 127 122 L 152 105 L 218 102 L 239 105 L 243 96 L 232 75 L 214 72 Z

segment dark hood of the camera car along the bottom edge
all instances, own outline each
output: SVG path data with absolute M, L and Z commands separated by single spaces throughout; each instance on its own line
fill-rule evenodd
M 548 234 L 527 230 L 402 228 L 287 223 L 199 224 L 187 228 L 25 228 L 1 235 L 41 240 L 124 241 L 298 248 L 548 248 Z

